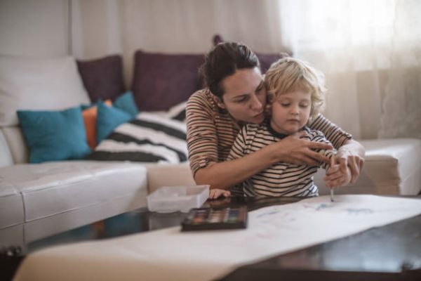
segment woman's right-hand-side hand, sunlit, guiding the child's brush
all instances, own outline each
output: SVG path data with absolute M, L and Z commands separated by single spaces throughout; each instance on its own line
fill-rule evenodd
M 349 140 L 345 145 L 342 145 L 336 154 L 336 160 L 340 164 L 342 173 L 345 173 L 347 168 L 350 169 L 351 183 L 356 182 L 363 170 L 365 154 L 363 146 L 354 140 Z M 323 179 L 325 181 L 333 181 L 334 178 L 335 176 L 328 171 Z

